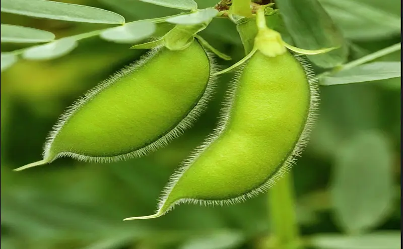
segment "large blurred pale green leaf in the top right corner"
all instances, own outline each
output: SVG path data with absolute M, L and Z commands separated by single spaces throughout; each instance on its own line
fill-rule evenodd
M 382 5 L 375 6 L 377 1 L 319 1 L 347 38 L 381 39 L 400 33 L 400 17 L 383 10 Z

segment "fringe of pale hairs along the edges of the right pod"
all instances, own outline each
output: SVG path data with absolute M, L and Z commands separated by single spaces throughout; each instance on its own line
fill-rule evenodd
M 282 176 L 288 173 L 292 166 L 296 164 L 297 157 L 301 156 L 304 148 L 306 147 L 311 130 L 316 120 L 316 112 L 319 107 L 319 86 L 318 86 L 318 79 L 315 76 L 311 64 L 309 63 L 308 59 L 304 55 L 296 54 L 291 52 L 291 54 L 297 59 L 299 64 L 302 66 L 305 75 L 307 77 L 308 85 L 309 85 L 309 92 L 310 92 L 310 101 L 309 101 L 309 108 L 308 108 L 308 115 L 305 120 L 305 126 L 300 133 L 299 139 L 295 144 L 293 150 L 289 153 L 288 157 L 285 159 L 283 164 L 278 167 L 277 171 L 272 174 L 263 184 L 257 186 L 255 189 L 235 198 L 225 199 L 225 200 L 201 200 L 201 199 L 193 199 L 193 198 L 183 198 L 176 200 L 173 202 L 170 207 L 164 207 L 166 200 L 168 199 L 172 189 L 174 188 L 175 184 L 179 180 L 179 178 L 186 172 L 186 170 L 197 160 L 197 158 L 203 153 L 216 139 L 220 137 L 220 135 L 225 131 L 227 124 L 229 123 L 231 116 L 230 111 L 231 107 L 234 102 L 234 98 L 237 92 L 237 83 L 242 75 L 242 72 L 245 66 L 248 64 L 247 60 L 244 64 L 240 65 L 235 72 L 235 76 L 233 80 L 230 82 L 229 89 L 224 97 L 223 107 L 221 109 L 221 113 L 219 116 L 219 121 L 217 128 L 214 129 L 213 133 L 210 134 L 206 141 L 201 143 L 190 155 L 189 157 L 184 160 L 178 169 L 172 174 L 170 177 L 167 185 L 165 186 L 163 193 L 158 202 L 158 209 L 155 215 L 151 216 L 144 216 L 144 217 L 133 217 L 127 218 L 129 219 L 143 219 L 143 218 L 155 218 L 164 215 L 165 213 L 169 212 L 170 210 L 174 209 L 176 205 L 182 203 L 188 204 L 198 204 L 203 206 L 208 205 L 232 205 L 240 202 L 244 202 L 247 199 L 253 198 L 260 193 L 267 192 L 268 189 L 272 188 L 276 184 L 276 182 L 282 178 Z

